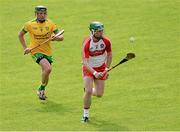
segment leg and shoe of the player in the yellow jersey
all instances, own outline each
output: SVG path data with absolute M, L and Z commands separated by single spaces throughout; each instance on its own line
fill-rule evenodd
M 49 63 L 49 61 L 45 58 L 43 58 L 40 62 L 39 65 L 41 66 L 42 69 L 42 80 L 41 80 L 41 86 L 39 87 L 39 98 L 42 100 L 45 100 L 46 96 L 45 96 L 45 87 L 48 84 L 48 80 L 49 80 L 49 75 L 51 73 L 51 64 Z

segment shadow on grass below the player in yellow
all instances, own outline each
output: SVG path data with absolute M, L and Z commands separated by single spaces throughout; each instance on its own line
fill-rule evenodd
M 71 109 L 51 100 L 41 101 L 40 106 L 36 109 L 38 112 L 52 112 L 56 114 L 65 114 L 71 112 Z

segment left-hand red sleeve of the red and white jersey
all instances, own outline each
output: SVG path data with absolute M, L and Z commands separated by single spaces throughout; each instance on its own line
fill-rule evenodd
M 83 58 L 89 58 L 89 39 L 85 38 L 83 41 L 83 47 L 82 47 L 82 57 Z

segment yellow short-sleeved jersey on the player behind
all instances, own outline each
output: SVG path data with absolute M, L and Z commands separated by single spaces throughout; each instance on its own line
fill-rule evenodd
M 43 23 L 39 23 L 36 20 L 29 21 L 25 23 L 23 29 L 25 33 L 29 32 L 30 34 L 30 45 L 29 48 L 33 48 L 45 40 L 47 40 L 53 33 L 59 32 L 56 24 L 54 24 L 51 20 L 47 19 Z M 51 55 L 51 46 L 50 41 L 46 44 L 39 46 L 38 48 L 31 51 L 34 55 L 35 53 L 42 53 L 45 55 Z

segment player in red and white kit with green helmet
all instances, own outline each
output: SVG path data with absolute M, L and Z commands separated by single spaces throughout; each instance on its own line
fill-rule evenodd
M 103 96 L 107 70 L 112 62 L 111 42 L 103 35 L 104 25 L 100 22 L 91 22 L 89 29 L 91 35 L 84 39 L 82 46 L 85 88 L 82 122 L 88 122 L 91 96 Z

